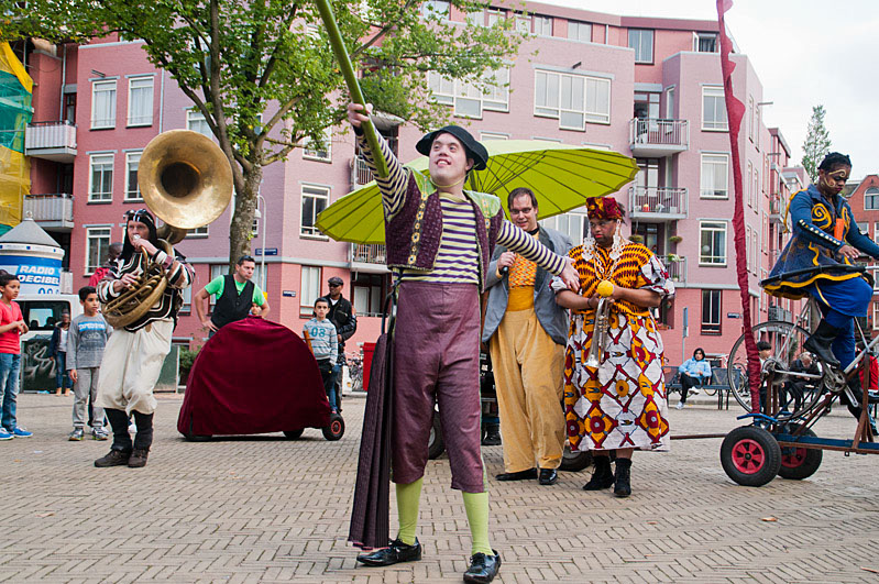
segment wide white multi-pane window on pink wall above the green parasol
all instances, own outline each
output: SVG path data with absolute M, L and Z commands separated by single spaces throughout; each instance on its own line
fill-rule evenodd
M 557 118 L 563 130 L 585 130 L 586 122 L 609 123 L 611 81 L 537 70 L 535 115 Z

